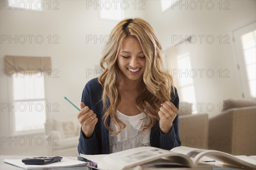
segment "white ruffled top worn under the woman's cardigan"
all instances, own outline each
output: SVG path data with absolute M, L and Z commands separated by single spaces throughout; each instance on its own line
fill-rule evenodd
M 143 112 L 135 116 L 127 116 L 118 110 L 116 113 L 117 117 L 125 123 L 126 127 L 115 136 L 111 136 L 112 133 L 111 131 L 109 132 L 110 153 L 134 147 L 150 146 L 150 130 L 144 131 L 145 136 L 142 133 L 143 126 L 148 123 L 148 116 L 146 119 L 143 119 L 145 118 Z M 110 121 L 110 128 L 114 131 L 118 130 L 118 127 L 112 121 Z

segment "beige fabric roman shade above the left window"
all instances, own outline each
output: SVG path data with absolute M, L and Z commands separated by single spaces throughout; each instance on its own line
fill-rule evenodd
M 52 68 L 51 57 L 5 56 L 7 72 L 25 70 L 35 73 L 37 70 L 47 71 Z

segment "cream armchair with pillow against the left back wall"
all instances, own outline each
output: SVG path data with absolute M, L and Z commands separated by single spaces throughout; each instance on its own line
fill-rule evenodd
M 80 125 L 76 120 L 47 120 L 45 123 L 46 138 L 49 141 L 49 156 L 79 156 L 77 146 Z

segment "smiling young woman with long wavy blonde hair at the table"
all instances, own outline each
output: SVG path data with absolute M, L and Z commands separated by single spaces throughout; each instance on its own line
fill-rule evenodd
M 82 93 L 79 153 L 180 146 L 179 97 L 161 50 L 143 19 L 124 19 L 113 28 L 100 63 L 104 71 Z

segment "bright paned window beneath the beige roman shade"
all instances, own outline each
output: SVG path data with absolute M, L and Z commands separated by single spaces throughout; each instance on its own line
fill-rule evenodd
M 13 135 L 43 133 L 46 120 L 43 74 L 11 74 Z

